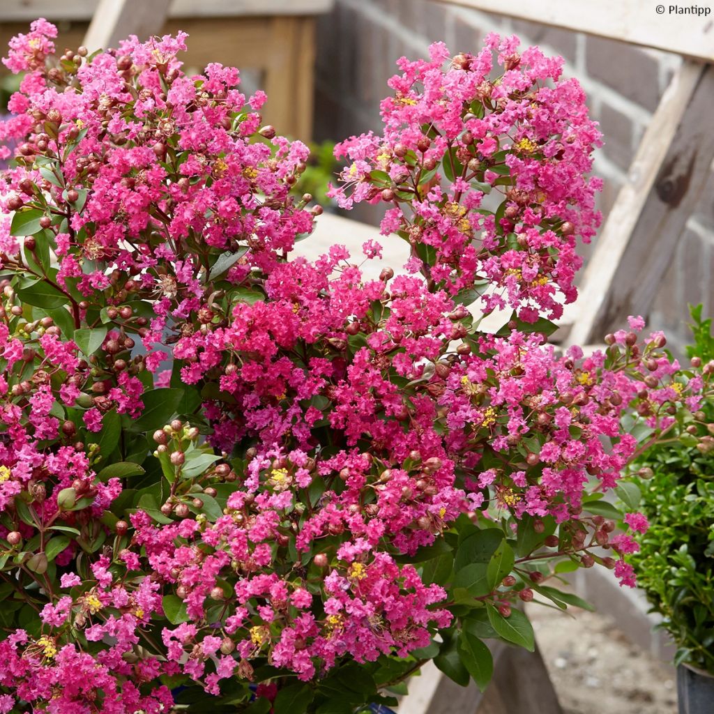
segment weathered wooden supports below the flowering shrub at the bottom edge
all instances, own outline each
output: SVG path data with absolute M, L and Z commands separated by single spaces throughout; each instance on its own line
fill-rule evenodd
M 501 642 L 489 643 L 493 680 L 483 694 L 471 682 L 461 687 L 433 665 L 412 680 L 399 714 L 562 714 L 540 650 L 528 652 Z M 420 681 L 421 680 L 421 681 Z

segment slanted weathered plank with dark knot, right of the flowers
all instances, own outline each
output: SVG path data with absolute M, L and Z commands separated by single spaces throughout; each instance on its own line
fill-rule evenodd
M 567 343 L 646 315 L 714 159 L 714 68 L 687 61 L 653 116 L 583 276 Z M 580 307 L 578 307 L 580 306 Z

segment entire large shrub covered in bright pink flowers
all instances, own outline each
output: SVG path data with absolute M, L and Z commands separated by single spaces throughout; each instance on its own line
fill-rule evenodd
M 289 257 L 307 150 L 235 69 L 183 74 L 183 34 L 55 36 L 6 59 L 0 712 L 348 713 L 429 659 L 483 688 L 484 638 L 533 648 L 513 603 L 578 603 L 545 583 L 595 563 L 631 584 L 620 416 L 666 428 L 700 383 L 640 319 L 588 358 L 546 343 L 599 220 L 560 60 L 401 60 L 331 189 L 411 246 L 369 281 L 339 245 Z M 513 308 L 498 333 L 477 298 Z

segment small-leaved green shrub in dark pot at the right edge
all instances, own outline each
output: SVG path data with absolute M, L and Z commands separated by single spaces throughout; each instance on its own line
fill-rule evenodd
M 692 308 L 693 368 L 714 371 L 711 319 Z M 697 379 L 695 377 L 695 379 Z M 644 449 L 623 482 L 630 505 L 649 522 L 628 560 L 659 625 L 675 645 L 682 714 L 703 714 L 714 701 L 714 403 L 683 411 L 664 438 Z M 641 438 L 648 439 L 643 432 Z M 645 441 L 645 443 L 647 443 Z M 622 492 L 624 495 L 624 492 Z M 643 524 L 644 525 L 644 524 Z

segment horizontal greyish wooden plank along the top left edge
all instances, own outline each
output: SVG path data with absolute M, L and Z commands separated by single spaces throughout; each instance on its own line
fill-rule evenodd
M 116 0 L 120 2 L 121 0 Z M 160 1 L 160 0 L 159 0 Z M 1 0 L 2 21 L 89 20 L 99 0 Z M 145 0 L 150 7 L 156 0 Z M 250 15 L 315 15 L 331 11 L 335 0 L 174 0 L 171 17 L 237 17 Z

